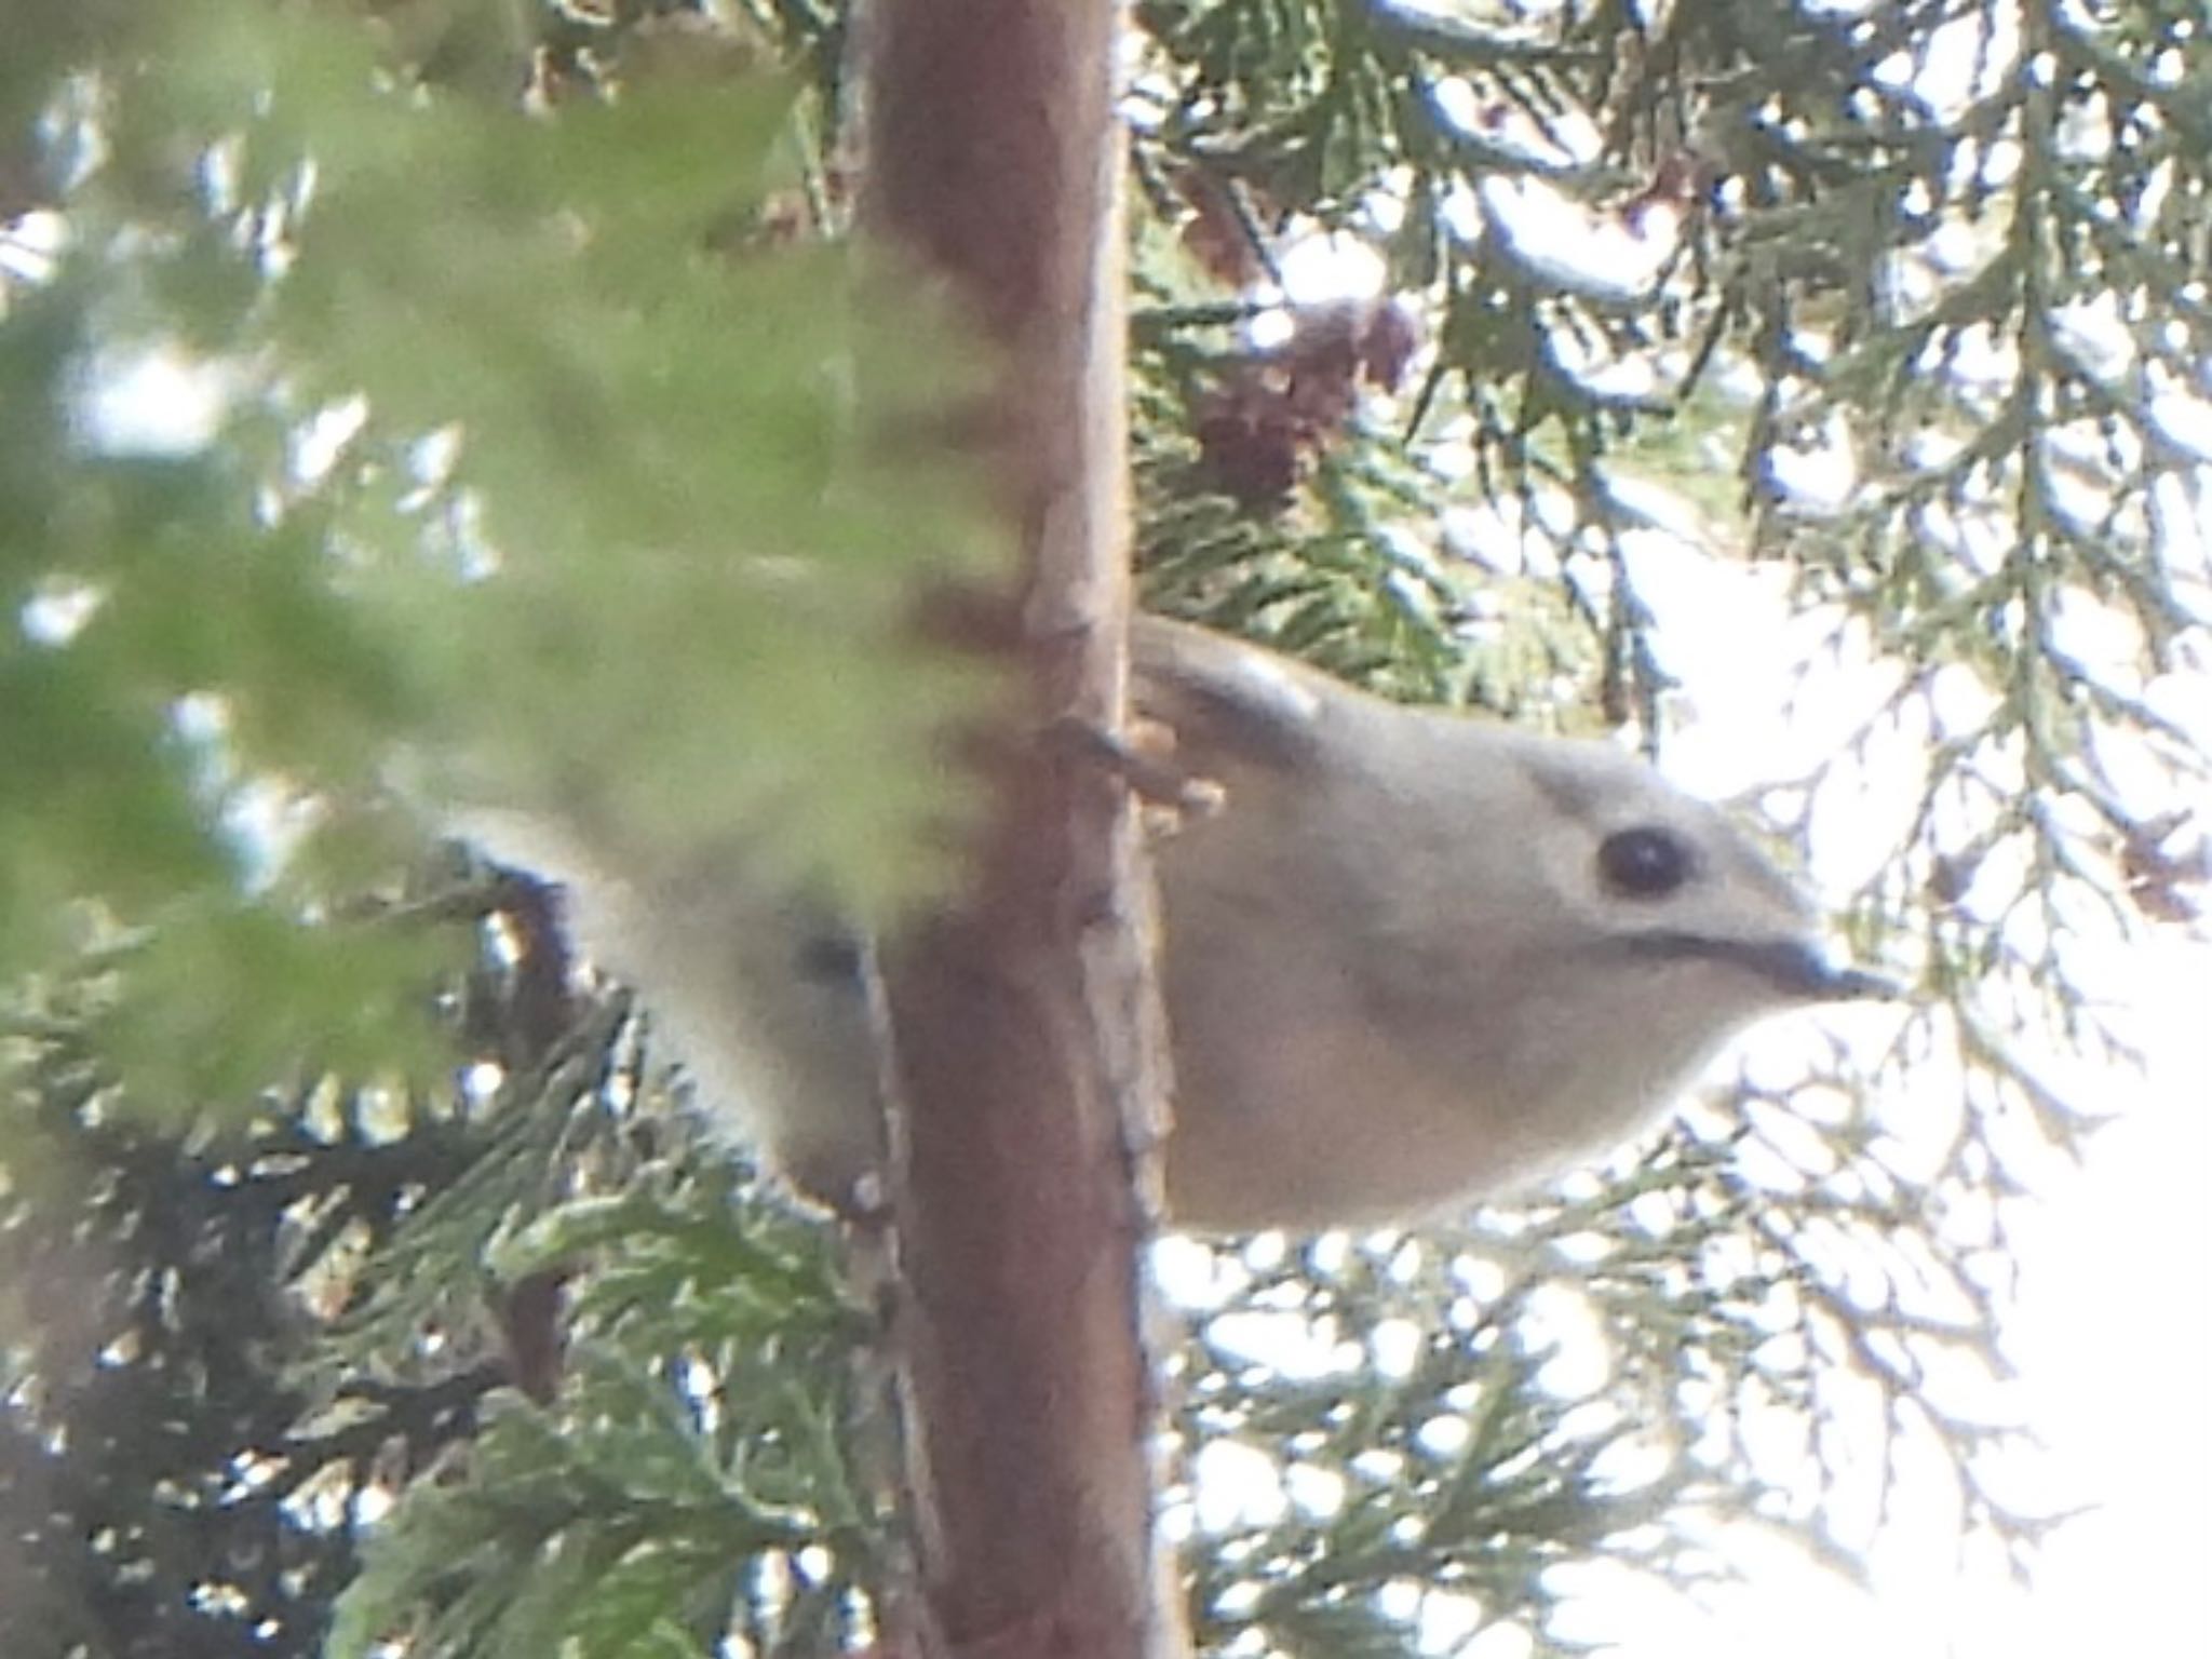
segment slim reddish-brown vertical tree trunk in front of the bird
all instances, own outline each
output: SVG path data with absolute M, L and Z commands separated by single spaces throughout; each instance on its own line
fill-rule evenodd
M 969 1659 L 1166 1652 L 1124 1121 L 1157 1099 L 1146 916 L 1119 783 L 1046 734 L 1124 692 L 1117 11 L 883 0 L 867 217 L 1000 347 L 978 411 L 1011 586 L 929 626 L 1004 657 L 962 907 L 887 960 L 902 1383 L 929 1630 Z

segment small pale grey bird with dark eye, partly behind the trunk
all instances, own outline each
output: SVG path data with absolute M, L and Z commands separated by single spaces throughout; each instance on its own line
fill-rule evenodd
M 1168 1210 L 1206 1232 L 1416 1221 L 1659 1117 L 1739 1026 L 1882 995 L 1719 810 L 1597 741 L 1407 708 L 1139 617 L 1137 710 L 1219 812 L 1155 843 Z M 858 953 L 730 858 L 646 869 L 588 825 L 458 814 L 564 883 L 582 947 L 794 1183 L 880 1141 Z

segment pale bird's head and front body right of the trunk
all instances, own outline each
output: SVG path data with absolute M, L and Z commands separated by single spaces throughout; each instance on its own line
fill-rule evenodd
M 1398 1221 L 1661 1113 L 1741 1024 L 1871 982 L 1714 807 L 1595 741 L 1407 708 L 1168 622 L 1139 701 L 1225 807 L 1159 847 L 1170 1210 Z

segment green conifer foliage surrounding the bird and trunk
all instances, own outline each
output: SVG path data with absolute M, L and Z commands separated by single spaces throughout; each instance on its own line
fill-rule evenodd
M 781 0 L 11 11 L 9 1659 L 911 1639 L 836 1230 L 409 807 L 942 883 L 984 690 L 898 628 L 1000 549 L 849 84 Z M 2075 947 L 2203 927 L 2201 9 L 1157 0 L 1126 117 L 1152 604 L 1663 759 L 1659 538 L 1871 686 L 1776 836 L 1909 779 L 1882 1037 L 1458 1228 L 1168 1245 L 1197 1644 L 1564 1652 L 1553 1568 L 1847 1566 L 1931 1455 L 2026 1562 L 2011 1203 L 2130 1044 Z

